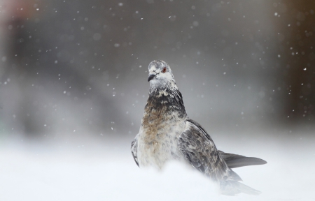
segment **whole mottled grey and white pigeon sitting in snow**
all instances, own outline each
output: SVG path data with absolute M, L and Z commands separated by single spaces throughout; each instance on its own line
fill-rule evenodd
M 165 61 L 152 61 L 148 74 L 148 100 L 139 133 L 131 143 L 137 165 L 162 170 L 169 161 L 181 161 L 218 184 L 223 195 L 259 195 L 260 191 L 239 182 L 241 177 L 232 168 L 267 162 L 218 150 L 207 131 L 188 117 L 179 87 Z

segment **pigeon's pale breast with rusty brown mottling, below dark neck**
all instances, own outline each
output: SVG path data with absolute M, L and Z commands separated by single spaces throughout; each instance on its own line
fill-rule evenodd
M 138 158 L 141 166 L 162 168 L 169 160 L 181 158 L 178 137 L 185 123 L 167 108 L 145 112 L 139 132 Z

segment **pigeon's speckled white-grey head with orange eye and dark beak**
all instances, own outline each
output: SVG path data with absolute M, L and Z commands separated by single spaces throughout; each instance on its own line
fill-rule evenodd
M 148 66 L 148 72 L 151 87 L 165 87 L 167 83 L 174 81 L 172 70 L 165 61 L 152 61 Z

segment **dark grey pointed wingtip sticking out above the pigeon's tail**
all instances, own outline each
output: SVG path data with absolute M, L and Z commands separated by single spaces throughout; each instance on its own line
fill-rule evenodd
M 246 157 L 237 154 L 225 153 L 223 151 L 218 151 L 225 163 L 229 166 L 229 168 L 239 168 L 248 165 L 263 165 L 267 162 L 254 157 Z

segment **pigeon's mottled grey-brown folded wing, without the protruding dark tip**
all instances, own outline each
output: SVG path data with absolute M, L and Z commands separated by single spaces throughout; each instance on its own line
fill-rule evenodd
M 214 181 L 241 181 L 239 175 L 228 168 L 204 128 L 191 119 L 186 120 L 186 125 L 179 135 L 179 150 L 190 165 Z

